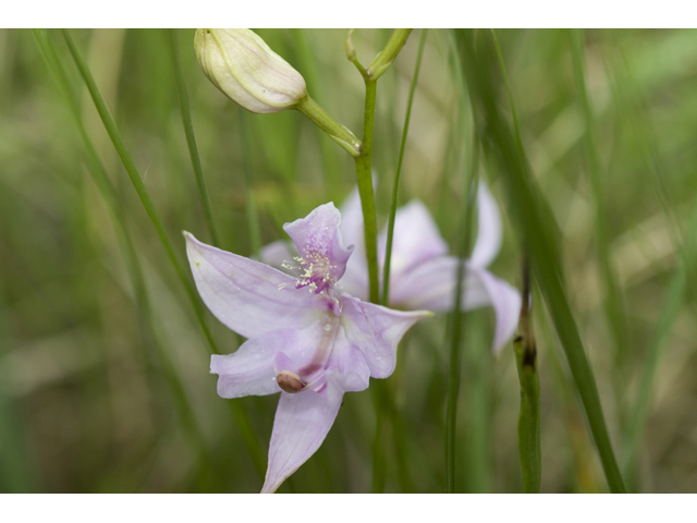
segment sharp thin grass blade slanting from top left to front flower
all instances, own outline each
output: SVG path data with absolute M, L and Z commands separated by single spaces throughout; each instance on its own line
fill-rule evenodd
M 157 231 L 160 242 L 162 243 L 162 245 L 164 246 L 164 250 L 167 251 L 167 254 L 170 258 L 170 262 L 172 263 L 172 266 L 174 267 L 176 276 L 182 281 L 182 284 L 186 290 L 186 294 L 192 302 L 192 305 L 196 313 L 196 318 L 198 319 L 198 323 L 200 324 L 200 327 L 204 330 L 204 335 L 208 340 L 208 344 L 210 345 L 210 349 L 212 350 L 212 352 L 218 354 L 216 342 L 213 341 L 210 330 L 206 325 L 206 319 L 204 318 L 204 309 L 201 307 L 200 301 L 198 300 L 198 295 L 196 294 L 196 291 L 192 287 L 191 281 L 187 279 L 184 272 L 184 269 L 182 268 L 182 265 L 180 264 L 176 257 L 176 253 L 174 252 L 174 245 L 172 244 L 172 241 L 170 240 L 169 235 L 167 234 L 167 231 L 164 230 L 164 226 L 162 224 L 162 221 L 160 220 L 160 217 L 158 216 L 157 210 L 155 209 L 155 205 L 152 205 L 150 195 L 148 194 L 148 191 L 145 187 L 145 184 L 143 183 L 140 175 L 138 174 L 138 170 L 136 169 L 135 163 L 133 162 L 133 158 L 131 158 L 131 154 L 129 153 L 125 144 L 123 143 L 121 133 L 119 133 L 119 129 L 117 127 L 117 124 L 111 118 L 111 114 L 109 113 L 109 109 L 107 109 L 107 104 L 105 104 L 105 100 L 101 97 L 99 89 L 97 88 L 97 84 L 95 83 L 95 80 L 91 76 L 89 68 L 87 66 L 87 63 L 83 59 L 80 52 L 80 49 L 77 49 L 77 46 L 75 45 L 75 41 L 73 40 L 73 37 L 70 35 L 70 32 L 68 29 L 63 29 L 63 37 L 65 38 L 65 41 L 68 42 L 68 47 L 70 48 L 70 52 L 73 57 L 73 60 L 75 61 L 75 64 L 77 65 L 77 69 L 80 70 L 80 73 L 83 76 L 85 84 L 87 85 L 87 89 L 89 90 L 89 95 L 91 96 L 91 99 L 95 102 L 95 107 L 97 108 L 97 112 L 99 112 L 99 117 L 101 118 L 105 129 L 107 130 L 107 133 L 109 133 L 109 137 L 111 138 L 111 142 L 113 143 L 117 149 L 117 153 L 119 153 L 119 157 L 121 158 L 121 161 L 123 162 L 123 167 L 125 167 L 126 172 L 129 173 L 129 178 L 131 178 L 131 183 L 133 183 L 133 187 L 138 194 L 138 197 L 140 198 L 140 203 L 143 204 L 143 207 L 145 207 L 145 210 L 148 217 L 150 218 L 150 221 L 155 227 L 155 230 Z

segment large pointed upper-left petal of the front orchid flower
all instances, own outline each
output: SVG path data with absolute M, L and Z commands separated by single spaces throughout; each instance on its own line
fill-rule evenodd
M 326 308 L 319 296 L 295 289 L 295 280 L 280 270 L 206 245 L 188 232 L 184 235 L 204 303 L 245 338 L 302 328 L 317 319 L 317 307 Z

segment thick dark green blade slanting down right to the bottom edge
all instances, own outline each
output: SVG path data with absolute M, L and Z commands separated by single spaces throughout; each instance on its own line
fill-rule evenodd
M 473 32 L 457 32 L 456 37 L 463 70 L 467 73 L 465 80 L 470 93 L 473 111 L 477 115 L 481 144 L 487 154 L 498 161 L 510 194 L 515 195 L 510 198 L 515 216 L 513 221 L 528 245 L 530 265 L 562 341 L 608 485 L 613 492 L 624 492 L 624 482 L 608 435 L 596 380 L 565 297 L 561 259 L 555 248 L 553 231 L 548 223 L 549 220 L 543 219 L 543 207 L 547 203 L 535 185 L 533 177 L 528 174 L 529 167 L 521 157 L 515 138 L 499 111 L 491 68 L 488 60 L 481 56 L 487 52 L 487 41 L 478 41 L 481 46 L 477 54 Z

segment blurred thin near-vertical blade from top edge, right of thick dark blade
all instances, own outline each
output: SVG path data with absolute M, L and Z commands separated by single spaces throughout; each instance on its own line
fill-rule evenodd
M 588 171 L 590 174 L 590 183 L 596 199 L 596 245 L 598 248 L 598 260 L 600 263 L 600 272 L 606 288 L 606 314 L 608 323 L 614 335 L 615 342 L 615 364 L 621 365 L 627 352 L 627 336 L 624 320 L 624 312 L 622 304 L 622 294 L 616 284 L 616 277 L 610 265 L 610 248 L 607 232 L 608 211 L 606 198 L 602 188 L 602 179 L 600 174 L 600 161 L 598 160 L 598 150 L 592 137 L 592 112 L 588 92 L 586 88 L 586 73 L 584 68 L 583 46 L 584 35 L 582 29 L 571 29 L 572 42 L 572 61 L 574 64 L 574 76 L 576 78 L 576 89 L 578 92 L 579 101 L 583 108 L 585 120 L 585 148 Z

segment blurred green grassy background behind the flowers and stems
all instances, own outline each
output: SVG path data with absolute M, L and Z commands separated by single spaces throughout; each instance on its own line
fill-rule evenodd
M 258 34 L 305 76 L 310 95 L 359 136 L 364 86 L 344 56 L 346 32 Z M 354 34 L 364 63 L 390 34 Z M 258 491 L 278 397 L 223 400 L 216 393 L 210 346 L 192 303 L 65 40 L 58 31 L 41 35 L 56 48 L 123 215 L 114 218 L 95 183 L 94 161 L 37 38 L 29 31 L 0 31 L 0 490 Z M 72 35 L 191 280 L 181 231 L 211 239 L 182 125 L 170 34 L 81 29 Z M 223 248 L 253 255 L 250 205 L 266 244 L 284 238 L 284 222 L 348 195 L 355 171 L 345 151 L 296 111 L 243 113 L 200 71 L 194 31 L 171 36 Z M 579 96 L 571 32 L 499 31 L 497 36 L 525 154 L 559 229 L 566 299 L 625 482 L 638 491 L 696 491 L 695 267 L 687 266 L 684 295 L 671 302 L 669 289 L 697 207 L 697 32 L 580 34 L 575 57 L 585 71 L 589 113 Z M 389 212 L 417 39 L 415 32 L 378 85 L 379 227 Z M 453 250 L 473 143 L 467 92 L 455 63 L 450 33 L 429 31 L 400 188 L 402 203 L 424 200 Z M 499 63 L 490 66 L 500 77 Z M 503 82 L 494 96 L 510 117 Z M 589 143 L 600 175 L 596 187 Z M 521 241 L 506 204 L 516 195 L 497 169 L 481 156 L 480 175 L 504 222 L 503 247 L 491 270 L 517 287 Z M 598 223 L 599 202 L 604 219 Z M 149 312 L 139 305 L 130 277 L 123 224 L 133 236 Z M 603 246 L 616 314 L 606 306 Z M 537 297 L 542 491 L 606 491 L 564 354 Z M 653 360 L 667 303 L 674 308 Z M 220 351 L 233 352 L 242 340 L 205 314 Z M 423 321 L 400 346 L 388 386 L 404 430 L 387 437 L 387 491 L 443 490 L 445 331 L 445 317 Z M 492 331 L 490 308 L 468 313 L 457 426 L 460 491 L 522 489 L 513 350 L 509 344 L 494 357 Z M 625 445 L 629 419 L 643 377 L 653 372 L 646 424 L 632 455 Z M 375 431 L 370 392 L 346 394 L 322 447 L 280 491 L 370 491 Z M 258 446 L 256 457 L 245 435 Z M 396 458 L 393 441 L 404 446 L 406 461 Z

